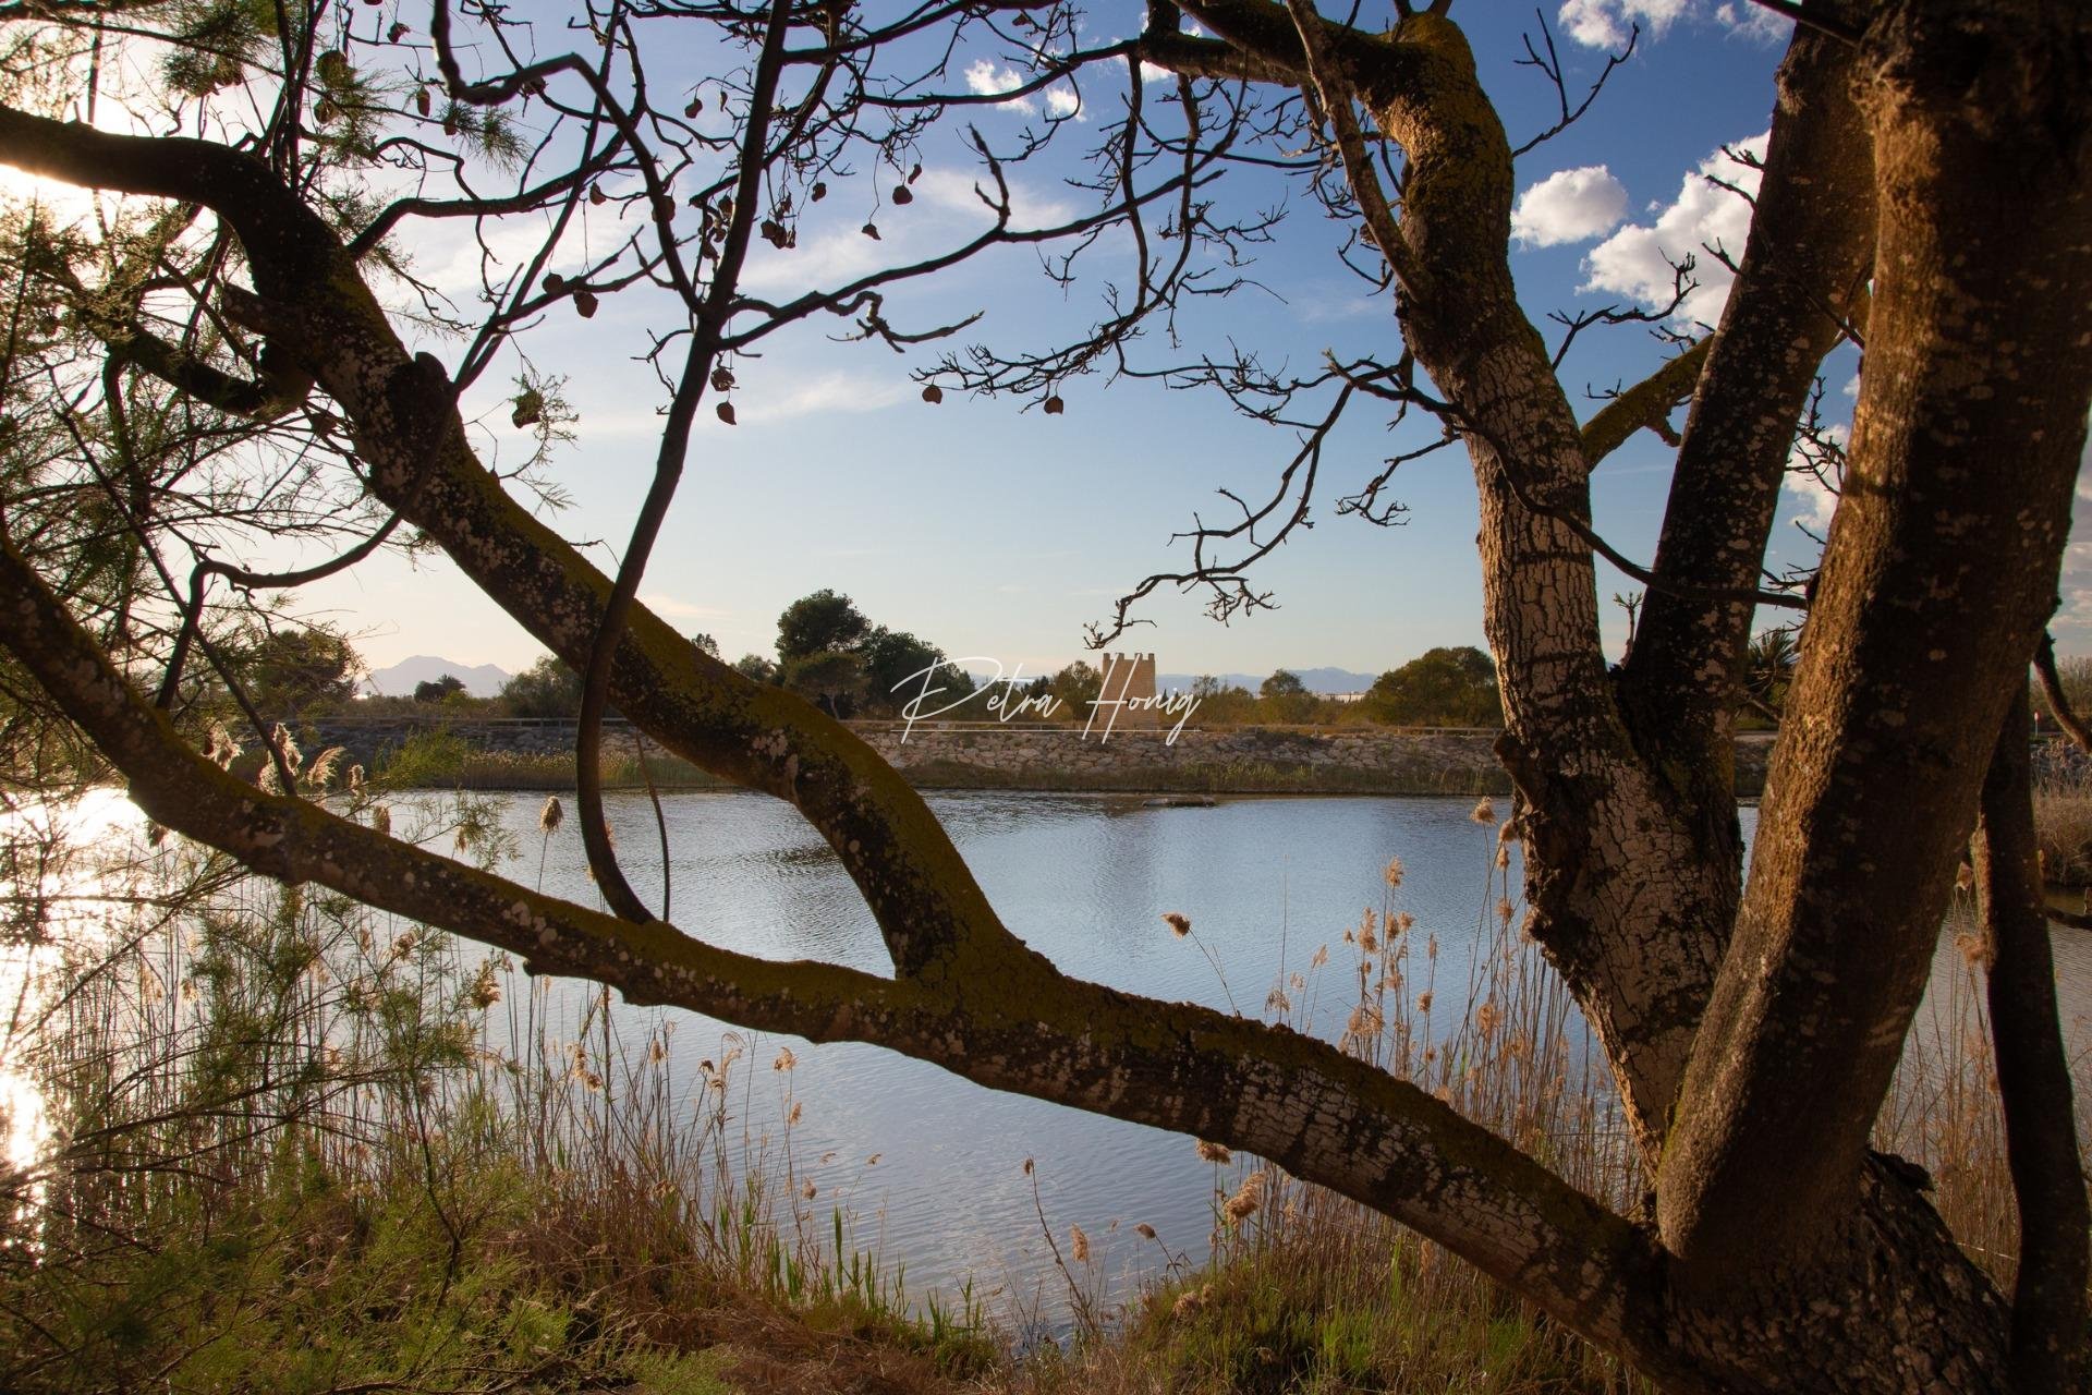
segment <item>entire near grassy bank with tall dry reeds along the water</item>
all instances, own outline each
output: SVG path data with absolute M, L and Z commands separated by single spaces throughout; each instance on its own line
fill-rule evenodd
M 402 832 L 502 851 L 471 803 L 423 818 Z M 1345 1050 L 1632 1207 L 1611 1081 L 1521 941 L 1490 811 L 1475 837 L 1473 970 L 1441 981 L 1391 864 L 1383 904 L 1264 985 L 1264 1014 L 1308 1029 L 1310 1004 L 1322 1023 L 1335 1004 Z M 1195 1140 L 1209 1244 L 1042 1213 L 1073 1332 L 1017 1351 L 1002 1313 L 910 1293 L 808 1186 L 789 1052 L 730 1039 L 678 1083 L 669 1021 L 632 1039 L 590 993 L 571 1012 L 544 987 L 504 998 L 500 964 L 444 935 L 174 841 L 142 857 L 126 895 L 161 891 L 69 927 L 29 996 L 42 1029 L 8 1044 L 56 1142 L 4 1177 L 0 1389 L 1644 1389 L 1385 1217 Z M 1176 947 L 1201 952 L 1195 933 Z M 1247 1008 L 1255 987 L 1230 993 Z M 1973 966 L 1956 989 L 1948 1027 L 1906 1052 L 1877 1146 L 1931 1169 L 1954 1232 L 2010 1282 Z M 751 1088 L 778 1092 L 768 1140 L 728 1108 Z M 1111 1244 L 1155 1251 L 1157 1282 L 1125 1305 L 1107 1299 Z

